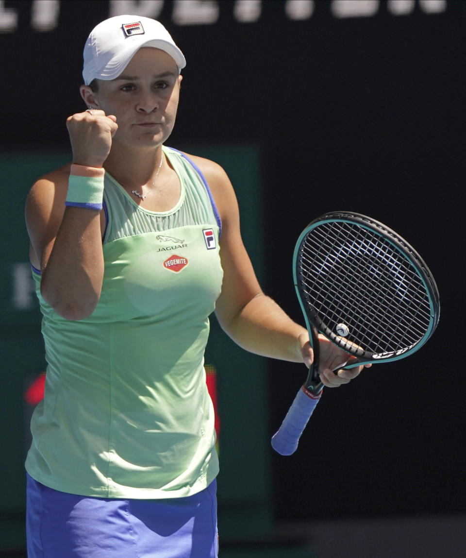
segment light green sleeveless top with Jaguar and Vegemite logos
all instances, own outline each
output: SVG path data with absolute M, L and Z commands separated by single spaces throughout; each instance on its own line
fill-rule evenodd
M 57 315 L 33 272 L 48 367 L 26 469 L 62 492 L 183 497 L 219 470 L 203 354 L 222 284 L 220 222 L 200 172 L 163 151 L 181 183 L 171 211 L 140 208 L 105 176 L 105 273 L 89 318 Z

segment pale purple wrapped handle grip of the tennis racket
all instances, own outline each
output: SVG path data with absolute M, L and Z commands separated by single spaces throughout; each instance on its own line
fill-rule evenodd
M 298 391 L 281 426 L 271 440 L 272 448 L 280 455 L 291 455 L 298 448 L 299 438 L 321 398 L 322 391 L 313 395 L 304 386 Z

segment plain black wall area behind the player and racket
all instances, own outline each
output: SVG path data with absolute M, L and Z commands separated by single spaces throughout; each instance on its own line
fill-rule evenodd
M 84 109 L 82 46 L 109 17 L 108 2 L 64 1 L 59 26 L 37 32 L 31 4 L 4 2 L 19 20 L 0 36 L 3 153 L 68 148 L 65 119 Z M 259 147 L 264 290 L 302 321 L 295 240 L 314 217 L 344 209 L 409 240 L 442 304 L 419 353 L 326 391 L 298 452 L 271 455 L 275 517 L 465 512 L 465 3 L 426 13 L 416 2 L 396 16 L 381 1 L 372 17 L 339 19 L 318 0 L 308 20 L 290 21 L 269 0 L 251 23 L 235 20 L 234 2 L 219 4 L 212 25 L 176 25 L 172 2 L 158 17 L 187 59 L 169 145 Z M 270 435 L 305 370 L 268 367 Z

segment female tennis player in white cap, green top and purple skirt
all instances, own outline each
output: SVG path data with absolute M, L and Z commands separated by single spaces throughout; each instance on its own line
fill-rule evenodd
M 246 350 L 312 361 L 307 330 L 261 291 L 224 170 L 164 145 L 184 66 L 157 21 L 96 26 L 72 163 L 27 198 L 48 363 L 26 460 L 29 558 L 217 556 L 208 315 Z M 326 386 L 357 376 L 334 374 L 348 355 L 321 345 Z

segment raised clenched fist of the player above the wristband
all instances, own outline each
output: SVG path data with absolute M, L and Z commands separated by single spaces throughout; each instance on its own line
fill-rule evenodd
M 92 109 L 73 114 L 66 119 L 70 134 L 73 162 L 76 165 L 101 167 L 108 157 L 111 139 L 117 132 L 117 118 Z

